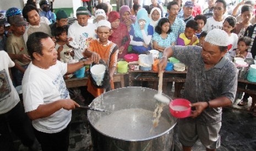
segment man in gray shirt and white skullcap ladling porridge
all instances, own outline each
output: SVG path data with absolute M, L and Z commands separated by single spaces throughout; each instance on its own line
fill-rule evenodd
M 171 46 L 164 50 L 159 72 L 173 56 L 188 67 L 183 98 L 191 102 L 189 117 L 178 120 L 178 137 L 183 150 L 191 150 L 198 139 L 206 150 L 220 147 L 221 111 L 231 106 L 236 96 L 237 69 L 226 59 L 228 35 L 211 30 L 202 47 Z

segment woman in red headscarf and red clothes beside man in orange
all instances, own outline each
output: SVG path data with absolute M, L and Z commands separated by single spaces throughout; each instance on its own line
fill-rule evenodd
M 130 43 L 130 35 L 126 25 L 120 22 L 120 15 L 117 11 L 111 11 L 108 15 L 108 21 L 111 23 L 111 30 L 108 40 L 115 43 L 119 47 L 118 59 L 123 59 L 127 54 L 127 49 Z

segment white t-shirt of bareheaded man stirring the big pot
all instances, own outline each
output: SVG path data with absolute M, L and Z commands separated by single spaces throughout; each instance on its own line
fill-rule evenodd
M 52 103 L 70 98 L 63 75 L 67 63 L 57 61 L 56 65 L 42 69 L 29 63 L 22 81 L 25 112 L 34 111 L 40 104 Z M 59 109 L 49 117 L 32 121 L 34 128 L 41 132 L 56 133 L 67 127 L 71 120 L 71 110 Z

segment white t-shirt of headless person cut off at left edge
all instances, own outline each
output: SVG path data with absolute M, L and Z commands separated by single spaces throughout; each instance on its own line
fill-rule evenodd
M 12 79 L 9 75 L 9 67 L 13 67 L 14 62 L 10 59 L 6 51 L 0 51 L 0 114 L 9 112 L 20 101 L 18 92 L 15 90 Z

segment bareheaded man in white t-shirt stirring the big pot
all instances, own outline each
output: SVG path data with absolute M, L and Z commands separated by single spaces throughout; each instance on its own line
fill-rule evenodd
M 68 150 L 71 109 L 79 104 L 70 99 L 63 75 L 92 61 L 57 61 L 55 43 L 43 32 L 30 34 L 26 45 L 32 61 L 22 81 L 25 112 L 42 150 Z

